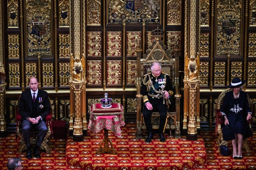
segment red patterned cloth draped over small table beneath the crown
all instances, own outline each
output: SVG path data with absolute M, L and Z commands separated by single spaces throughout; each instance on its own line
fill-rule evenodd
M 120 137 L 120 127 L 124 125 L 124 112 L 121 104 L 113 103 L 110 108 L 103 108 L 101 104 L 92 104 L 90 106 L 88 129 L 95 135 L 105 128 Z

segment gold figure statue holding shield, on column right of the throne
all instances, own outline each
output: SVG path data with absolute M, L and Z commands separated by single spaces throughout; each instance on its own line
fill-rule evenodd
M 196 80 L 199 77 L 199 53 L 197 53 L 197 57 L 192 55 L 190 59 L 188 58 L 188 54 L 185 56 L 185 74 L 188 80 Z

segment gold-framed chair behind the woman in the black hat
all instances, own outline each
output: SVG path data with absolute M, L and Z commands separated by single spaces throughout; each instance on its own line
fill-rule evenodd
M 230 92 L 230 91 L 231 91 L 230 88 L 227 88 L 226 90 L 224 90 L 218 96 L 217 103 L 216 103 L 216 114 L 215 114 L 216 115 L 216 128 L 215 128 L 215 134 L 217 136 L 216 143 L 218 143 L 218 145 L 219 145 L 218 151 L 220 151 L 220 146 L 221 145 L 228 146 L 228 143 L 229 143 L 229 141 L 224 141 L 223 140 L 221 124 L 224 123 L 224 120 L 223 120 L 222 114 L 220 113 L 220 106 L 222 105 L 222 102 L 223 102 L 223 99 L 224 99 L 224 96 L 225 96 L 226 92 Z M 249 97 L 248 94 L 247 94 L 247 99 L 248 99 L 248 102 L 249 102 L 249 105 L 250 105 L 251 102 L 250 102 L 250 97 Z M 250 123 L 250 128 L 252 129 L 251 123 Z M 246 139 L 244 139 L 242 141 L 242 147 L 245 149 L 246 152 L 251 152 L 250 147 L 249 147 L 248 142 L 247 142 Z

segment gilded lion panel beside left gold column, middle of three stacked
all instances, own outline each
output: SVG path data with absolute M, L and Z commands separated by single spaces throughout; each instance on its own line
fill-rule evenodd
M 87 55 L 88 56 L 101 56 L 102 47 L 102 35 L 100 32 L 88 32 L 87 33 Z

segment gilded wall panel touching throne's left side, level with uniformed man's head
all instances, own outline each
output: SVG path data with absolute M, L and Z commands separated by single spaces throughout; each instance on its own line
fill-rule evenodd
M 135 84 L 137 78 L 137 61 L 128 60 L 127 62 L 127 75 L 126 75 L 126 84 Z

